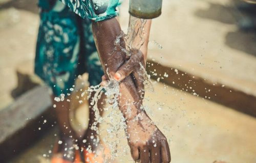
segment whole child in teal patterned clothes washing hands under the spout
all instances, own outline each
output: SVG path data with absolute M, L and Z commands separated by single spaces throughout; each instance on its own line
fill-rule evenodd
M 62 3 L 56 0 L 39 0 L 41 21 L 35 59 L 35 72 L 51 86 L 54 94 L 52 99 L 56 103 L 60 140 L 52 162 L 79 161 L 79 152 L 74 148 L 75 145 L 86 149 L 84 150 L 84 159 L 87 162 L 106 161 L 103 158 L 106 153 L 103 146 L 88 139 L 92 135 L 94 138 L 98 138 L 96 131 L 90 128 L 94 122 L 94 112 L 90 111 L 89 127 L 82 136 L 75 134 L 69 121 L 69 94 L 73 90 L 75 78 L 87 70 L 90 84 L 97 85 L 103 75 L 102 67 L 105 74 L 106 69 L 110 74 L 110 76 L 104 76 L 103 80 L 111 77 L 120 82 L 119 107 L 126 119 L 127 139 L 134 160 L 169 162 L 170 154 L 166 138 L 141 110 L 142 99 L 138 93 L 141 89 L 139 87 L 141 82 L 137 80 L 136 83 L 132 78 L 135 76 L 132 73 L 136 72 L 136 69 L 126 72 L 126 69 L 121 67 L 119 73 L 115 73 L 120 66 L 127 66 L 131 64 L 129 61 L 135 59 L 135 57 L 131 57 L 126 61 L 125 54 L 114 45 L 116 37 L 121 32 L 116 19 L 118 0 L 62 0 Z M 145 26 L 147 31 L 145 42 L 148 40 L 150 24 L 151 21 L 148 21 Z M 121 44 L 125 47 L 123 41 Z M 141 47 L 139 53 L 142 55 L 135 60 L 138 62 L 133 62 L 133 64 L 137 64 L 134 67 L 138 67 L 141 60 L 145 61 L 146 51 L 147 43 Z M 124 63 L 125 61 L 126 63 Z M 63 95 L 65 95 L 65 100 L 54 101 L 54 97 Z M 99 110 L 103 108 L 102 101 L 103 99 L 98 102 Z M 132 103 L 129 115 L 126 112 L 127 101 Z M 78 143 L 75 140 L 78 140 Z M 95 158 L 93 156 L 96 151 L 101 151 L 100 153 L 103 154 Z

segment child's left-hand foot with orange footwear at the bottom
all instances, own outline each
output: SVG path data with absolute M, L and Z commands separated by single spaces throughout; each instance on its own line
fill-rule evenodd
M 61 137 L 57 140 L 53 156 L 52 163 L 80 163 L 80 152 L 78 146 L 75 144 L 75 140 L 69 137 Z

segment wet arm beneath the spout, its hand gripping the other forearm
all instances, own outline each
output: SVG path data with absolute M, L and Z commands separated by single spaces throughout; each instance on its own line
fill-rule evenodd
M 133 32 L 129 32 L 130 34 L 127 34 L 131 37 L 133 36 L 133 40 L 126 40 L 130 43 L 129 47 L 130 50 L 130 57 L 127 58 L 125 62 L 118 68 L 117 72 L 114 75 L 115 80 L 118 82 L 121 82 L 125 77 L 129 76 L 130 74 L 134 77 L 135 86 L 140 93 L 140 97 L 143 98 L 144 96 L 144 77 L 145 77 L 145 65 L 146 65 L 146 58 L 147 58 L 147 44 L 148 39 L 150 36 L 150 28 L 151 28 L 151 19 L 145 20 L 146 22 L 143 23 L 144 25 L 143 30 L 141 30 L 141 20 L 137 19 L 133 16 L 130 16 L 130 23 L 133 23 L 132 26 L 129 25 L 130 30 L 133 30 Z M 135 25 L 136 24 L 136 25 Z M 143 31 L 143 32 L 141 32 Z M 136 36 L 134 36 L 134 33 L 136 33 Z M 127 43 L 125 42 L 125 43 Z M 142 45 L 141 45 L 142 44 Z M 127 47 L 127 45 L 126 45 Z M 139 49 L 138 49 L 139 47 Z M 102 86 L 106 85 L 106 76 L 102 76 Z

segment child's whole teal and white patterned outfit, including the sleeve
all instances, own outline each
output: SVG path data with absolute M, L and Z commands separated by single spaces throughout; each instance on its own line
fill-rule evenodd
M 118 15 L 118 0 L 39 0 L 40 25 L 35 73 L 55 96 L 72 91 L 76 77 L 89 73 L 90 85 L 101 81 L 103 70 L 91 22 Z

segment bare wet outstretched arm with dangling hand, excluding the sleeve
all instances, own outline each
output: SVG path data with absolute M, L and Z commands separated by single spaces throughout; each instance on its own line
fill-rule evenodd
M 113 79 L 118 68 L 126 61 L 125 53 L 114 45 L 116 37 L 121 33 L 119 22 L 116 18 L 93 22 L 92 28 L 102 67 L 105 74 L 109 74 L 106 78 Z M 125 47 L 123 40 L 120 45 Z M 141 162 L 170 162 L 165 136 L 141 109 L 142 98 L 133 75 L 125 77 L 119 84 L 119 108 L 126 119 L 126 134 L 133 159 Z M 127 103 L 131 104 L 130 107 Z

